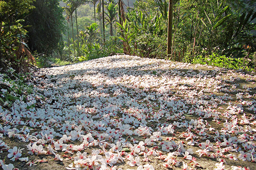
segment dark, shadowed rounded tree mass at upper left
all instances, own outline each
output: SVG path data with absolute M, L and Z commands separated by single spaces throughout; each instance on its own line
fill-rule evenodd
M 26 18 L 25 24 L 30 25 L 29 48 L 38 53 L 51 55 L 62 41 L 64 17 L 59 0 L 36 0 L 36 7 Z

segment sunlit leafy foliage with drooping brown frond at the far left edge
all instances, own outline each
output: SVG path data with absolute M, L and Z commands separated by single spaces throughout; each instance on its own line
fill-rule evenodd
M 34 8 L 33 1 L 0 0 L 0 65 L 3 70 L 9 66 L 16 71 L 27 71 L 27 60 L 34 62 L 25 43 L 27 31 L 22 24 Z

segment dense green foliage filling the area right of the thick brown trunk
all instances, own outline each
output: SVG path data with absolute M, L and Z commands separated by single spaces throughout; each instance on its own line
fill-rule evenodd
M 178 0 L 174 5 L 171 59 L 228 68 L 255 68 L 252 57 L 256 51 L 255 37 L 251 34 L 251 30 L 256 29 L 252 22 L 256 17 L 253 8 L 245 8 L 241 0 Z M 245 50 L 244 46 L 248 45 Z M 214 54 L 218 54 L 217 57 Z M 210 57 L 212 55 L 214 57 Z

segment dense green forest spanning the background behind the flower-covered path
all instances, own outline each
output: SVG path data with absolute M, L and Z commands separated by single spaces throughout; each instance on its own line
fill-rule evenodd
M 255 70 L 256 0 L 0 0 L 0 65 L 65 65 L 113 54 Z

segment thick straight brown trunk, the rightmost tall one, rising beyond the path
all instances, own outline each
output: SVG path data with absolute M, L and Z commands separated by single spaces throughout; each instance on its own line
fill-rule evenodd
M 172 0 L 169 0 L 169 14 L 168 14 L 168 38 L 167 38 L 167 54 L 172 54 L 172 16 L 173 4 Z

